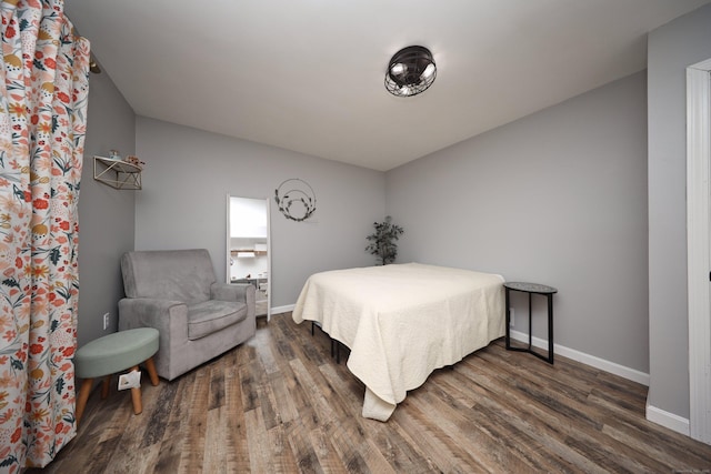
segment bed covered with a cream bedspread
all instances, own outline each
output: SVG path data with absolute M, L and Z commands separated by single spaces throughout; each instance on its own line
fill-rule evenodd
M 504 334 L 503 278 L 391 264 L 311 275 L 292 317 L 316 321 L 350 350 L 365 384 L 362 415 L 387 421 L 409 390 Z

